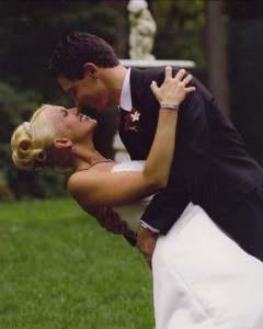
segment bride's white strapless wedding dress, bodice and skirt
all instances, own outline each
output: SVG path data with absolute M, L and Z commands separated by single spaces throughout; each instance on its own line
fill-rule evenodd
M 144 161 L 113 172 L 141 171 Z M 150 198 L 117 207 L 134 230 Z M 262 329 L 263 262 L 190 203 L 152 258 L 156 329 Z

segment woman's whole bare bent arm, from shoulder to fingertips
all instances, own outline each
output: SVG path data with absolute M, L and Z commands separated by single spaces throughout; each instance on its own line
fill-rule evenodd
M 194 91 L 185 86 L 192 77 L 183 78 L 180 70 L 172 78 L 172 68 L 165 68 L 165 80 L 151 89 L 159 103 L 180 105 L 186 94 Z M 124 205 L 145 197 L 165 186 L 173 160 L 178 111 L 160 109 L 158 127 L 150 154 L 142 172 L 111 172 L 94 167 L 90 171 L 78 172 L 69 179 L 68 188 L 82 207 L 110 207 Z M 169 141 L 169 143 L 168 143 Z

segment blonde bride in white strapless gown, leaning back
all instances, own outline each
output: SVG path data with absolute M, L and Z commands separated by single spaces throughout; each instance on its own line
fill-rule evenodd
M 156 137 L 147 161 L 115 163 L 94 148 L 96 122 L 62 106 L 43 105 L 31 122 L 13 133 L 14 163 L 23 170 L 52 166 L 73 169 L 68 189 L 79 205 L 125 211 L 136 234 L 139 218 L 155 193 L 165 188 L 173 161 L 178 111 L 192 77 L 180 70 L 151 89 L 160 103 Z M 176 107 L 174 106 L 174 107 Z M 170 106 L 169 106 L 170 107 Z M 169 143 L 168 143 L 169 140 Z M 127 209 L 129 215 L 127 215 Z M 197 205 L 190 203 L 165 236 L 159 236 L 152 257 L 157 329 L 261 329 L 263 265 L 228 238 Z

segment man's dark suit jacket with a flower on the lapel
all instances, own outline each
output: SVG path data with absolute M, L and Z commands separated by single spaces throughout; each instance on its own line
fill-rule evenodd
M 146 159 L 150 150 L 159 113 L 150 84 L 156 80 L 160 86 L 163 79 L 164 68 L 132 69 L 139 122 L 136 131 L 129 129 L 129 114 L 122 113 L 119 136 L 133 160 Z M 263 186 L 263 170 L 209 91 L 197 79 L 191 84 L 196 92 L 180 106 L 169 184 L 155 195 L 141 219 L 165 235 L 192 201 L 248 252 L 263 259 L 263 193 L 253 202 Z

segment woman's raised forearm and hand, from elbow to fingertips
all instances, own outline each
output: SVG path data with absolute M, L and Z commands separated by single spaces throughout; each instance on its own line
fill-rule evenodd
M 151 90 L 160 104 L 180 105 L 187 93 L 195 90 L 194 87 L 185 86 L 192 80 L 188 75 L 184 79 L 185 70 L 181 69 L 172 78 L 172 68 L 165 67 L 165 79 L 160 88 L 153 81 Z M 183 79 L 183 80 L 182 80 Z M 156 136 L 146 161 L 144 177 L 160 189 L 165 188 L 173 161 L 175 149 L 175 132 L 178 124 L 178 111 L 160 105 Z

